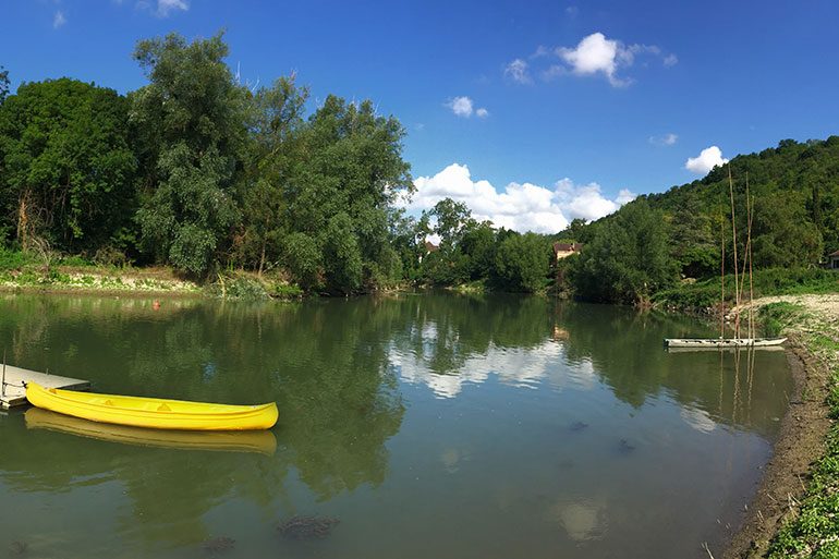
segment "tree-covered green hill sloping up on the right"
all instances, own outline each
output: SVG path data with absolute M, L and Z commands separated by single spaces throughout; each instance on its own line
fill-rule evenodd
M 741 268 L 747 199 L 754 269 L 814 268 L 839 250 L 839 136 L 783 139 L 702 180 L 640 196 L 596 222 L 572 223 L 561 235 L 586 248 L 567 264 L 571 285 L 588 299 L 643 300 L 680 278 L 718 277 L 724 240 L 726 266 L 733 269 L 731 191 Z

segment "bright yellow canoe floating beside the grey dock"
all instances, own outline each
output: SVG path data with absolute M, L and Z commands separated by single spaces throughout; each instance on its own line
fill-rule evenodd
M 271 402 L 228 405 L 160 398 L 97 394 L 26 385 L 26 399 L 45 410 L 100 423 L 150 429 L 251 430 L 270 429 L 279 412 Z

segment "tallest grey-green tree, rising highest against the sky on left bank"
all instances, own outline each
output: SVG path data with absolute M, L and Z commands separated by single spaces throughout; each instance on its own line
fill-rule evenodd
M 227 54 L 221 34 L 192 44 L 171 34 L 134 51 L 150 82 L 135 92 L 131 111 L 147 169 L 137 214 L 143 247 L 196 276 L 220 257 L 240 217 L 233 186 L 244 92 Z

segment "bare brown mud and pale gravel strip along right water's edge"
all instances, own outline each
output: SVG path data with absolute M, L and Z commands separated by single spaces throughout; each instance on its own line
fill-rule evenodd
M 786 302 L 801 305 L 805 316 L 789 325 L 788 357 L 795 390 L 781 425 L 775 452 L 740 531 L 734 534 L 724 559 L 757 558 L 766 554 L 770 539 L 785 521 L 797 513 L 812 462 L 825 452 L 825 435 L 831 421 L 825 402 L 829 370 L 839 365 L 839 351 L 813 343 L 817 337 L 839 340 L 839 294 L 783 295 L 763 297 L 754 307 Z M 732 313 L 742 314 L 749 305 Z

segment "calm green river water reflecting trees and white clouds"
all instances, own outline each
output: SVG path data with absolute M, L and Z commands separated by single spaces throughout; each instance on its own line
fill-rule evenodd
M 0 556 L 673 558 L 719 549 L 792 388 L 785 354 L 678 353 L 689 319 L 536 297 L 0 297 L 9 363 L 253 403 L 255 438 L 0 415 Z M 114 440 L 115 439 L 115 440 Z M 338 519 L 287 538 L 294 515 Z M 231 549 L 204 548 L 215 537 Z M 715 547 L 716 546 L 716 547 Z

